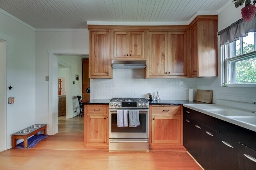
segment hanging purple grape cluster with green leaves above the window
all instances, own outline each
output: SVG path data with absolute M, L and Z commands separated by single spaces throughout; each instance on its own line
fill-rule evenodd
M 238 8 L 238 6 L 245 5 L 244 8 L 241 10 L 242 18 L 245 22 L 252 21 L 253 17 L 255 16 L 256 12 L 256 0 L 233 0 L 235 2 L 235 7 Z M 252 2 L 252 4 L 251 4 Z

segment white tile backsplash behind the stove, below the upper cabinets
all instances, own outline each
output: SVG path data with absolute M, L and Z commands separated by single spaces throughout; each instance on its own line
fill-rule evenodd
M 90 99 L 156 96 L 161 100 L 188 100 L 188 89 L 196 90 L 194 78 L 147 78 L 142 69 L 113 69 L 113 79 L 90 79 Z M 92 92 L 91 92 L 92 90 Z

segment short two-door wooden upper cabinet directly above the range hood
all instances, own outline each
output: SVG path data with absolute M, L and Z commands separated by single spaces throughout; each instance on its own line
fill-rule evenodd
M 144 31 L 114 31 L 114 59 L 144 58 Z

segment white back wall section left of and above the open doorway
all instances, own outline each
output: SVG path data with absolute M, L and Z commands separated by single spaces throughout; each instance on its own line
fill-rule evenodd
M 35 121 L 36 123 L 50 123 L 49 116 L 49 96 L 48 96 L 48 81 L 45 81 L 45 76 L 49 75 L 49 51 L 89 51 L 88 30 L 79 32 L 70 32 L 68 29 L 64 31 L 50 31 L 42 29 L 36 32 L 36 59 L 35 59 L 35 94 L 36 103 Z M 65 31 L 67 30 L 67 31 Z M 58 67 L 58 66 L 57 66 Z M 48 127 L 49 128 L 49 127 Z M 50 130 L 48 129 L 47 130 Z M 51 131 L 48 131 L 51 132 Z

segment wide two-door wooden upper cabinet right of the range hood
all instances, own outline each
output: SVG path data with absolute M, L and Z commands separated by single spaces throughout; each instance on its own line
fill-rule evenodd
M 149 32 L 148 78 L 186 76 L 187 32 Z

